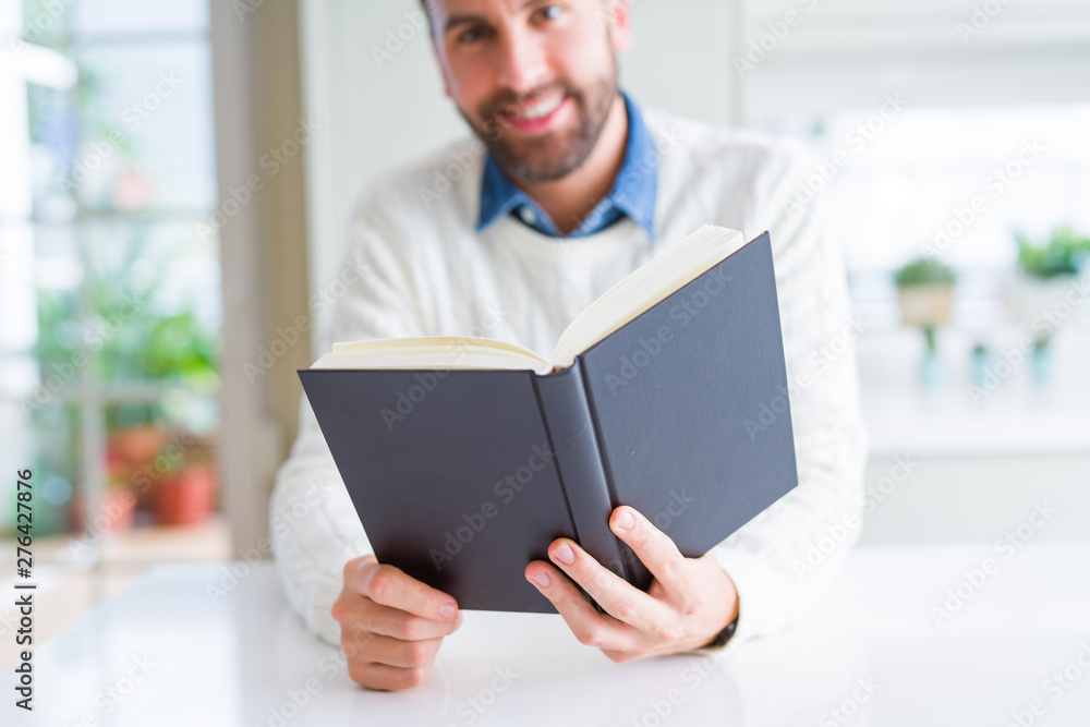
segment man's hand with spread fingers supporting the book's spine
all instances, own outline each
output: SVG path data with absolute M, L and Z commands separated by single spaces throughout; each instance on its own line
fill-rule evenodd
M 738 616 L 738 592 L 713 553 L 686 558 L 674 541 L 630 507 L 615 509 L 609 526 L 655 577 L 647 593 L 566 537 L 553 541 L 549 558 L 606 614 L 595 610 L 549 564 L 535 560 L 525 570 L 581 643 L 601 649 L 614 662 L 676 654 L 707 644 Z

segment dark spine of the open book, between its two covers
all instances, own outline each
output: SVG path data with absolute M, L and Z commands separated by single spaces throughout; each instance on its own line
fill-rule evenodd
M 623 544 L 609 530 L 613 501 L 580 368 L 577 359 L 568 368 L 534 375 L 542 419 L 579 545 L 631 582 L 622 557 Z

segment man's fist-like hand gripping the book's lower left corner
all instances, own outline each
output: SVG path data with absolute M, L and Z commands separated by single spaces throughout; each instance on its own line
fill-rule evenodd
M 451 596 L 373 555 L 344 565 L 344 589 L 331 613 L 341 625 L 349 676 L 387 691 L 421 684 L 443 638 L 462 622 Z

